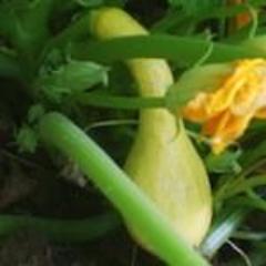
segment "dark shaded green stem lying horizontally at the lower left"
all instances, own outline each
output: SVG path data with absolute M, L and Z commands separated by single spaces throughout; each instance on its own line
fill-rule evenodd
M 0 215 L 0 236 L 30 228 L 55 242 L 88 242 L 105 235 L 117 224 L 117 217 L 112 214 L 70 221 L 25 215 Z

